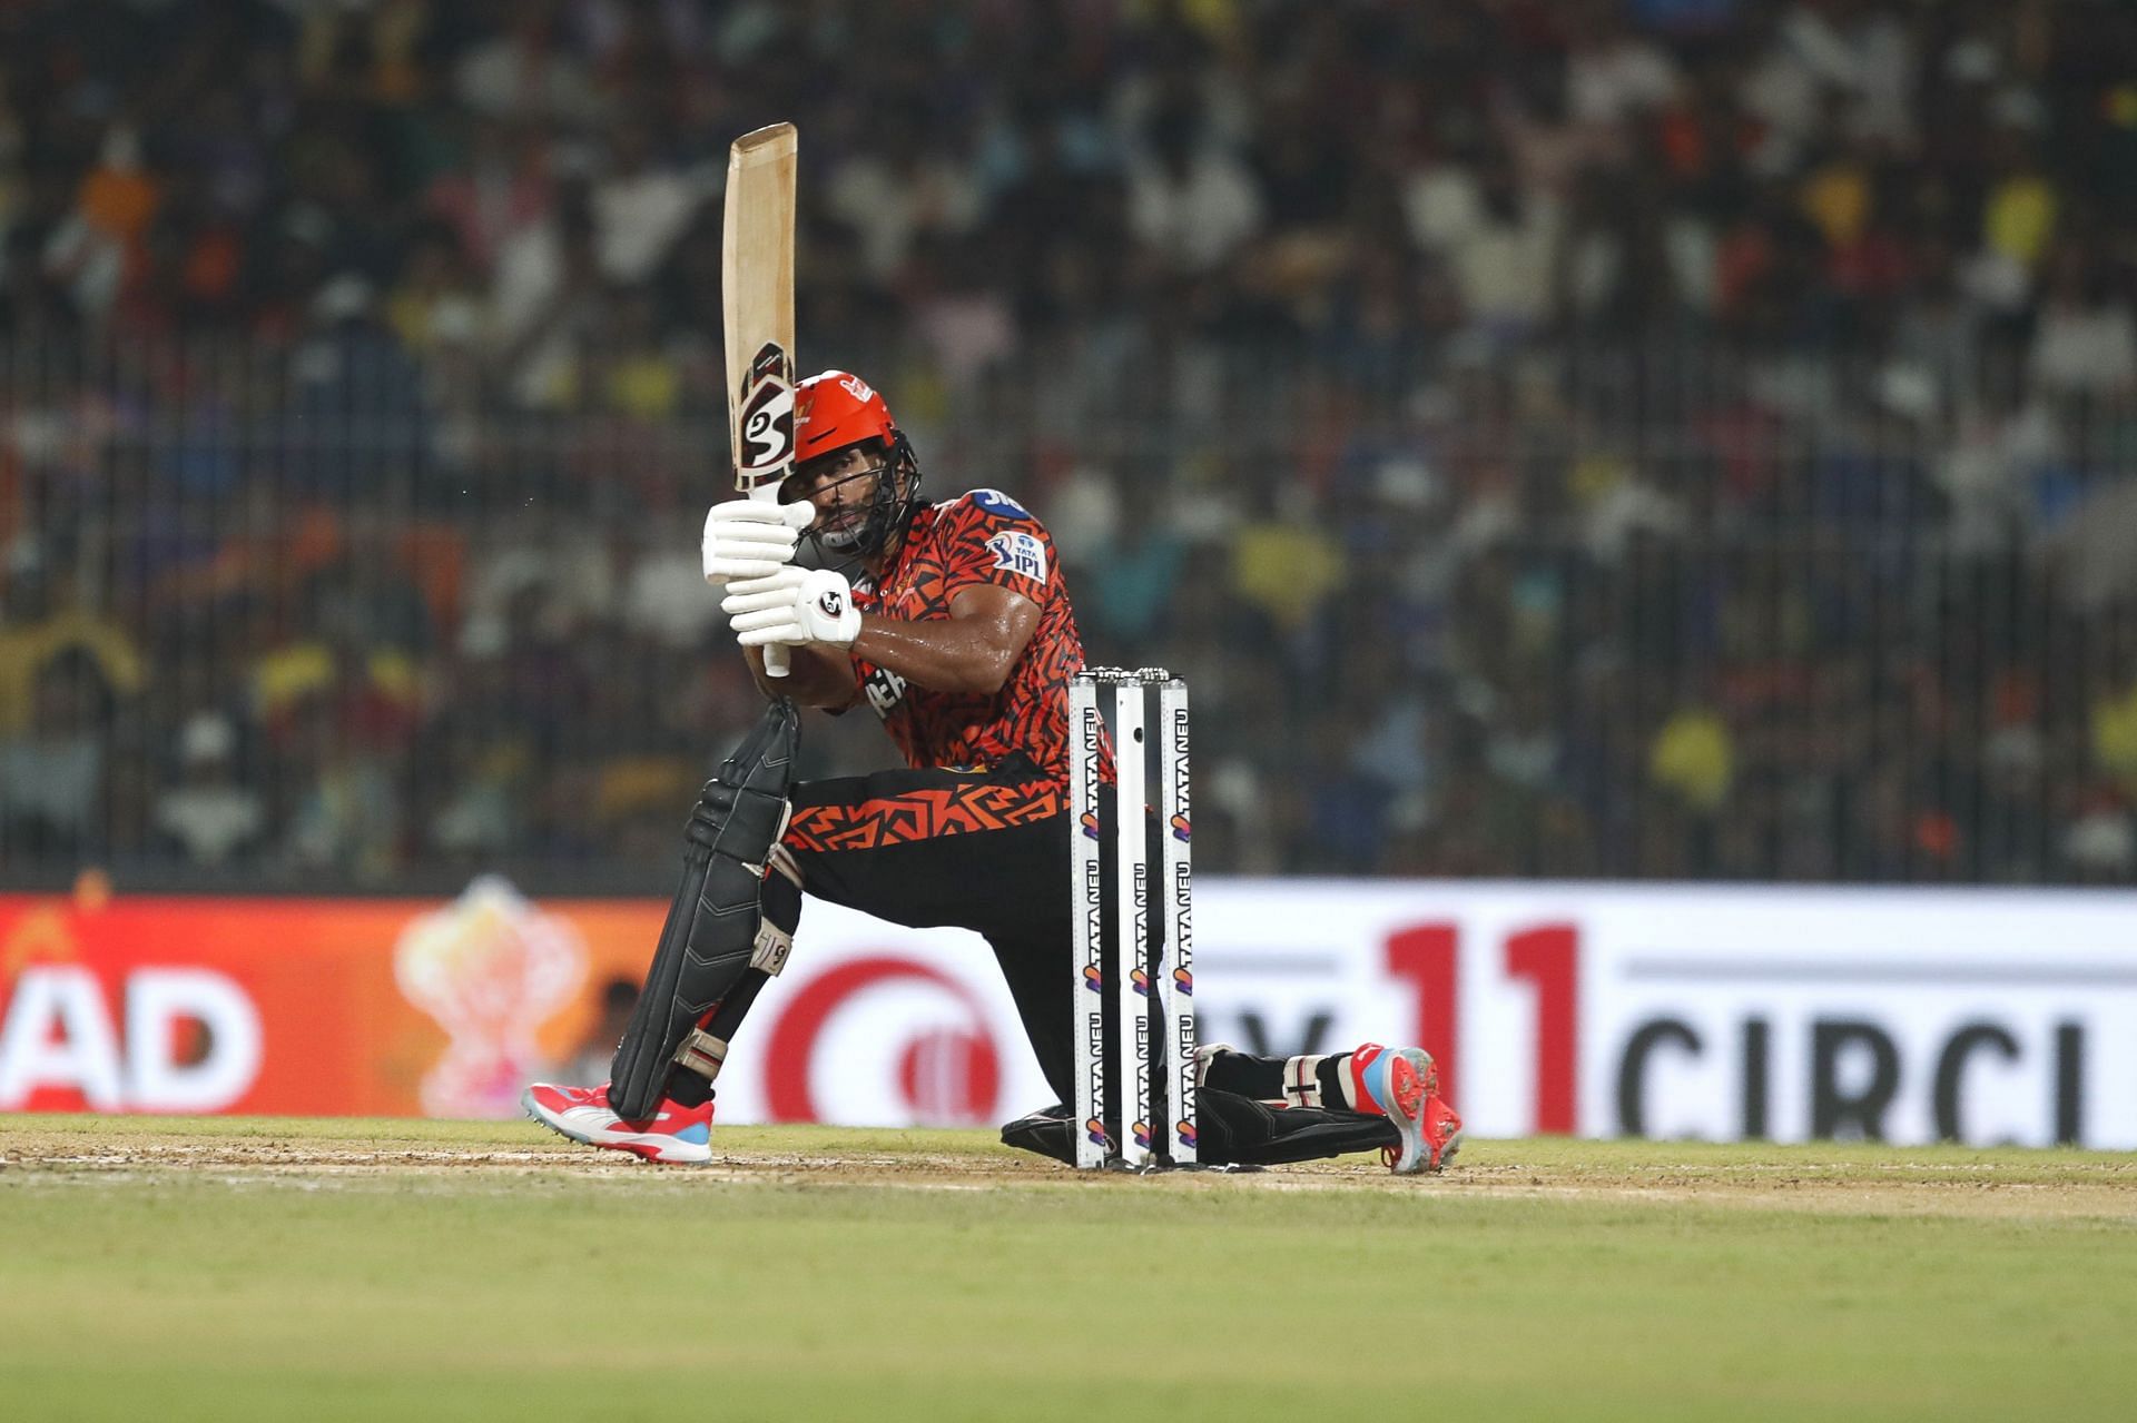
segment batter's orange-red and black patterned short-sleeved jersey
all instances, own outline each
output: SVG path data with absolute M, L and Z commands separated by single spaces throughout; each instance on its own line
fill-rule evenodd
M 996 583 L 1039 605 L 1039 626 L 1000 692 L 936 692 L 853 658 L 861 701 L 883 718 L 906 765 L 985 769 L 1017 754 L 1054 780 L 1068 776 L 1068 677 L 1083 639 L 1054 558 L 1054 538 L 1007 494 L 972 489 L 912 515 L 880 579 L 853 588 L 863 613 L 927 622 L 951 598 Z M 1107 767 L 1109 769 L 1109 767 Z

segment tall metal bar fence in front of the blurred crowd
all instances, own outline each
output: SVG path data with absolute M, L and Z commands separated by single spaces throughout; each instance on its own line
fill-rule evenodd
M 821 342 L 806 350 L 825 350 Z M 2128 882 L 2137 404 L 2022 361 L 855 355 L 1197 697 L 1212 872 Z M 709 348 L 0 350 L 0 878 L 665 889 L 756 694 Z M 816 718 L 812 773 L 889 746 Z

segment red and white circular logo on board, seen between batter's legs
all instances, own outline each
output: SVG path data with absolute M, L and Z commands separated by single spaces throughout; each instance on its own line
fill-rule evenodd
M 861 1103 L 821 1103 L 818 1068 Z M 987 1013 L 951 974 L 893 953 L 846 959 L 799 985 L 765 1043 L 765 1115 L 771 1122 L 983 1126 L 998 1115 L 1002 1055 Z M 831 1107 L 825 1111 L 825 1107 Z

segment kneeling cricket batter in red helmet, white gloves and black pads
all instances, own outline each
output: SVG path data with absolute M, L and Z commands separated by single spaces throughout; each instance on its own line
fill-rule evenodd
M 705 519 L 705 579 L 727 588 L 720 607 L 774 703 L 690 814 L 682 882 L 609 1081 L 534 1083 L 521 1098 L 573 1141 L 712 1158 L 714 1081 L 786 964 L 804 891 L 985 938 L 1047 1083 L 1075 1100 L 1066 741 L 1083 643 L 1054 541 L 994 489 L 921 502 L 912 447 L 857 376 L 799 382 L 795 447 L 780 504 L 729 500 Z M 842 570 L 793 566 L 804 536 Z M 765 675 L 767 645 L 793 650 L 786 677 Z M 868 703 L 910 769 L 793 782 L 793 703 Z M 1259 1058 L 1207 1045 L 1197 1058 L 1205 1162 L 1378 1150 L 1413 1173 L 1460 1145 L 1419 1047 Z M 1075 1160 L 1062 1105 L 1002 1139 Z

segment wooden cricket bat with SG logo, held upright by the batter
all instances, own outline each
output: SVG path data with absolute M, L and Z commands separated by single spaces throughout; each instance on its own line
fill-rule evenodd
M 746 132 L 727 150 L 720 295 L 735 491 L 776 502 L 795 462 L 793 124 Z M 786 675 L 786 647 L 765 647 L 765 675 Z

